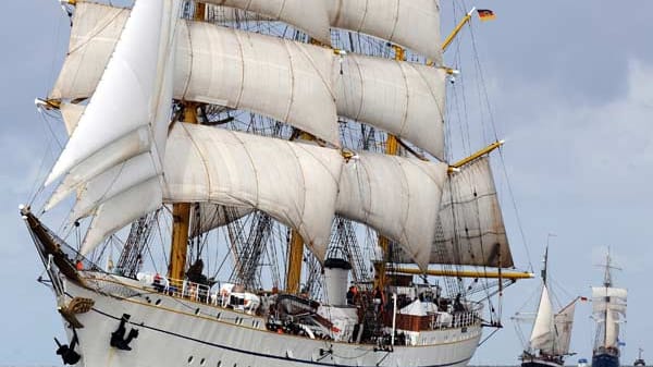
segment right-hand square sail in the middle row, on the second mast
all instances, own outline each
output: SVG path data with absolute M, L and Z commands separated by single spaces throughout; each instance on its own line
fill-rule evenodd
M 444 160 L 444 70 L 349 54 L 334 75 L 340 115 L 383 129 Z

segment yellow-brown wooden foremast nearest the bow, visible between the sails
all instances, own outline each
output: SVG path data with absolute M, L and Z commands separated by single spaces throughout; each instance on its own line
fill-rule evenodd
M 193 19 L 204 21 L 206 4 L 197 2 Z M 184 102 L 183 121 L 186 123 L 198 123 L 197 109 L 198 103 Z M 190 203 L 180 203 L 172 205 L 172 244 L 170 246 L 170 265 L 168 277 L 171 279 L 183 280 L 186 278 L 186 257 L 188 254 L 188 228 L 190 223 Z

